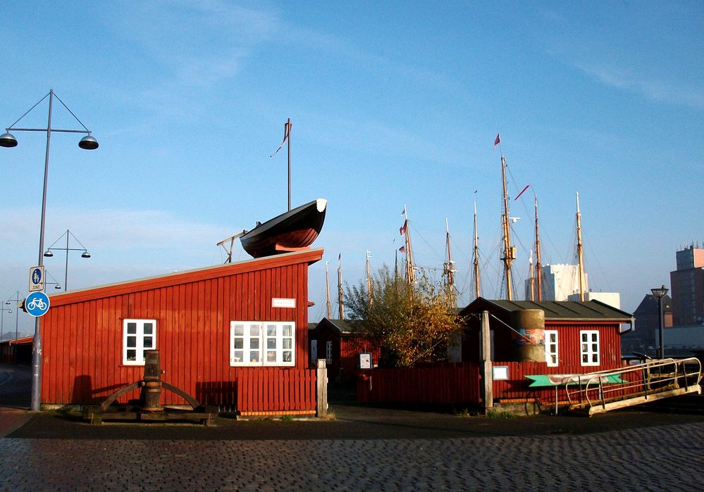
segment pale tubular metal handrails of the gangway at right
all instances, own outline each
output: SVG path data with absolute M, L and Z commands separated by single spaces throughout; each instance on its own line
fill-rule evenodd
M 695 365 L 696 370 L 691 370 L 688 372 L 687 365 Z M 657 377 L 654 379 L 651 377 L 653 373 L 663 374 L 662 368 L 672 366 L 672 370 L 665 372 L 666 377 Z M 655 372 L 657 370 L 657 372 Z M 643 393 L 645 398 L 648 398 L 648 394 L 653 394 L 660 388 L 667 388 L 669 386 L 674 386 L 674 388 L 679 388 L 684 386 L 686 390 L 690 386 L 699 384 L 702 379 L 702 365 L 701 361 L 697 358 L 686 358 L 674 360 L 672 358 L 660 359 L 660 360 L 650 360 L 643 364 L 638 364 L 629 367 L 622 367 L 619 369 L 603 370 L 597 372 L 589 372 L 586 374 L 573 374 L 572 377 L 567 379 L 565 382 L 565 392 L 567 393 L 567 400 L 572 405 L 572 396 L 574 396 L 574 391 L 570 393 L 570 384 L 576 384 L 579 387 L 579 403 L 586 405 L 591 408 L 595 404 L 600 404 L 605 408 L 607 394 L 621 392 L 622 397 L 625 400 L 628 398 L 629 390 L 638 389 L 638 393 Z M 628 374 L 629 372 L 640 371 L 642 377 L 640 381 L 629 381 L 628 379 L 622 378 L 622 375 Z M 646 377 L 647 374 L 647 377 Z M 670 375 L 672 374 L 672 375 Z M 623 383 L 609 384 L 605 386 L 608 376 L 619 376 Z M 691 382 L 690 380 L 696 376 L 696 381 Z M 658 383 L 658 388 L 653 389 L 653 382 Z M 598 391 L 598 402 L 590 397 L 590 392 Z

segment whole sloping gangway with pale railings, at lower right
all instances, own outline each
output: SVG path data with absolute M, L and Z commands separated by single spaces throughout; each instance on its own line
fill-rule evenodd
M 587 415 L 662 398 L 701 393 L 697 358 L 649 360 L 617 370 L 573 374 L 565 381 L 569 410 Z

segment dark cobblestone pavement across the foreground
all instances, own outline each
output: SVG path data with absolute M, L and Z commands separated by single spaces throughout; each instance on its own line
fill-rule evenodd
M 703 470 L 702 422 L 466 439 L 0 439 L 2 491 L 693 491 Z

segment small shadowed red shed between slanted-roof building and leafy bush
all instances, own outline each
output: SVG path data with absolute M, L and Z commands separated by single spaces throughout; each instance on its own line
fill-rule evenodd
M 326 360 L 328 377 L 352 381 L 359 369 L 359 354 L 371 355 L 372 367 L 381 353 L 378 343 L 367 338 L 359 324 L 348 320 L 323 319 L 309 333 L 311 358 Z

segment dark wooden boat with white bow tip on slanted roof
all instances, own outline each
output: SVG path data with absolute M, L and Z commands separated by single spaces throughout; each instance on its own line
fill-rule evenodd
M 290 253 L 308 248 L 323 228 L 328 201 L 325 198 L 282 213 L 240 236 L 242 248 L 253 258 Z

